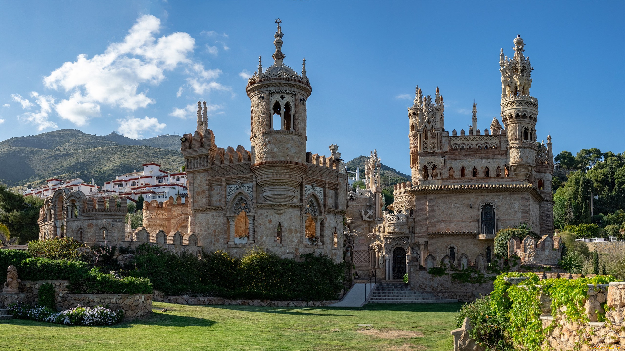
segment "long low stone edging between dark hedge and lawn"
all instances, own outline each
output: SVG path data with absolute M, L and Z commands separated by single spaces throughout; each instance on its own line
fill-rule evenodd
M 156 298 L 154 299 L 156 301 Z M 162 302 L 181 305 L 247 305 L 247 306 L 267 306 L 267 307 L 322 307 L 336 304 L 339 300 L 324 301 L 273 301 L 254 299 L 224 299 L 222 297 L 189 297 L 164 296 Z

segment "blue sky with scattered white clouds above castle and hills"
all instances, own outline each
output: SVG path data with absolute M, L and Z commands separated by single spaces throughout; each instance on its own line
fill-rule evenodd
M 517 34 L 531 59 L 538 139 L 555 153 L 623 152 L 625 2 L 574 1 L 0 1 L 0 139 L 76 128 L 129 137 L 195 129 L 211 106 L 219 147 L 249 149 L 244 78 L 306 57 L 308 145 L 343 159 L 377 149 L 409 173 L 414 87 L 441 89 L 445 126 L 499 116 L 499 49 Z M 190 106 L 190 107 L 189 107 Z M 501 119 L 500 119 L 501 121 Z

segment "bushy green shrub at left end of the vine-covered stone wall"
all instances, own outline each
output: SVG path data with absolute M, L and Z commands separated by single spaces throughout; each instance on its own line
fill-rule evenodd
M 473 329 L 469 331 L 471 339 L 486 350 L 512 351 L 512 345 L 506 338 L 506 327 L 509 322 L 507 315 L 497 315 L 491 307 L 491 298 L 482 297 L 474 302 L 462 305 L 454 322 L 459 328 L 464 318 L 469 317 Z

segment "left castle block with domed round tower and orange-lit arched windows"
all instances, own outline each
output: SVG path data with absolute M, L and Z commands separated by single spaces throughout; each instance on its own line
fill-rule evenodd
M 325 254 L 340 262 L 347 173 L 336 145 L 329 147 L 329 157 L 306 152 L 312 88 L 305 60 L 301 74 L 284 64 L 283 36 L 278 25 L 272 66 L 263 69 L 259 59 L 247 83 L 249 151 L 217 147 L 206 102 L 197 103 L 196 131 L 184 134 L 181 145 L 189 187 L 187 232 L 209 251 L 240 256 L 257 246 L 281 257 Z M 144 216 L 157 212 L 150 206 Z M 174 222 L 170 216 L 165 219 Z M 163 224 L 160 229 L 166 230 Z

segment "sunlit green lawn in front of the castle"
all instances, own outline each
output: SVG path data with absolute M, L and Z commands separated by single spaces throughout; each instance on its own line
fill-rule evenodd
M 1 321 L 0 350 L 449 351 L 453 349 L 449 332 L 455 329 L 453 319 L 460 307 L 459 303 L 286 308 L 154 302 L 153 316 L 109 327 Z M 168 311 L 161 312 L 164 308 Z

